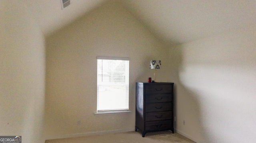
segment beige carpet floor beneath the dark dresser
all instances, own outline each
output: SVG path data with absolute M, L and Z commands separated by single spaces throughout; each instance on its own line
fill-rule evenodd
M 45 143 L 195 143 L 172 131 L 158 131 L 141 136 L 140 131 L 110 133 L 85 137 L 46 140 Z

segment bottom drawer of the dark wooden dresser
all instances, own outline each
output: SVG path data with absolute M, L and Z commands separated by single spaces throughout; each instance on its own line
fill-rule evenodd
M 172 120 L 145 122 L 145 130 L 167 129 L 171 127 L 172 127 Z

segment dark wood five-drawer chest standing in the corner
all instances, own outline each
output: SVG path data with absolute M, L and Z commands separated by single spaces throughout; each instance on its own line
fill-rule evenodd
M 169 82 L 136 82 L 136 126 L 142 137 L 152 131 L 174 133 L 173 86 Z

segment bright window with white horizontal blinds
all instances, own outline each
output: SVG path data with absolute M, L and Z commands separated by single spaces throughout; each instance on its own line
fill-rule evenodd
M 97 57 L 97 112 L 129 110 L 129 59 Z

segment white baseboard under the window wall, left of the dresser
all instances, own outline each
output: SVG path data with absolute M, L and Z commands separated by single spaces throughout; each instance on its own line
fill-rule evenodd
M 135 131 L 135 128 L 118 129 L 118 130 L 110 130 L 110 131 L 95 131 L 95 132 L 88 132 L 88 133 L 76 133 L 76 134 L 69 134 L 69 135 L 56 135 L 56 136 L 46 137 L 46 140 L 63 139 L 63 138 L 70 138 L 70 137 L 82 137 L 82 136 L 88 136 L 88 135 L 102 135 L 102 134 L 106 134 L 106 133 L 120 133 L 120 132 L 125 132 L 125 131 Z

